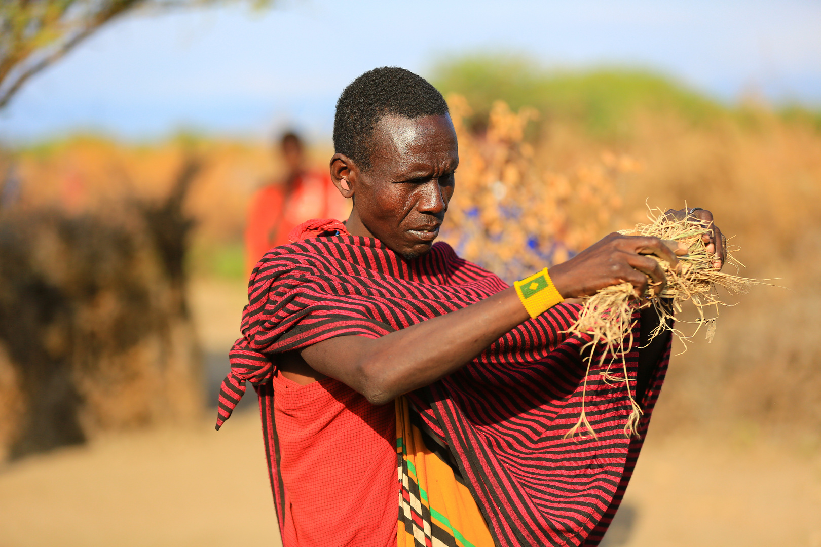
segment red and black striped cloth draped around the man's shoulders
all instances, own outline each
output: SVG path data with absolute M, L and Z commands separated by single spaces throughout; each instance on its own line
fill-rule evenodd
M 217 428 L 245 393 L 245 381 L 257 390 L 280 526 L 285 494 L 270 384 L 276 354 L 335 336 L 377 338 L 507 287 L 444 243 L 406 261 L 377 239 L 348 235 L 339 221 L 309 221 L 297 230 L 301 235 L 292 239 L 303 240 L 271 249 L 251 276 L 243 338 L 232 349 L 218 403 Z M 502 547 L 599 544 L 667 371 L 669 347 L 639 394 L 644 415 L 631 439 L 623 431 L 631 413 L 626 384 L 601 377 L 611 363 L 621 370 L 621 356 L 605 356 L 603 364 L 594 356 L 585 409 L 598 438 L 565 439 L 580 416 L 587 362 L 581 352 L 589 338 L 562 331 L 579 309 L 559 304 L 525 321 L 460 371 L 408 395 L 424 425 L 451 450 Z M 633 335 L 639 339 L 638 321 Z M 638 350 L 625 357 L 635 390 Z

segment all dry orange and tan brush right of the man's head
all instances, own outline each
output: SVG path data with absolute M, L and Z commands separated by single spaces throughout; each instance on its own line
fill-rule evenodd
M 622 120 L 627 136 L 603 142 L 575 121 L 534 120 L 530 109 L 516 114 L 501 103 L 486 133 L 471 130 L 482 125 L 466 127 L 464 100 L 451 101 L 461 162 L 446 236 L 466 258 L 513 280 L 644 221 L 644 203 L 708 208 L 743 248 L 741 276 L 781 278 L 777 285 L 791 290 L 762 287 L 744 299 L 721 293 L 722 301 L 738 305 L 722 310 L 720 325 L 713 323 L 712 344 L 699 337 L 672 359 L 654 423 L 667 431 L 732 429 L 742 422 L 818 431 L 816 128 L 754 105 L 699 123 L 676 112 L 638 110 Z M 691 335 L 695 327 L 684 321 L 697 321 L 698 313 L 685 309 L 677 316 Z M 675 353 L 682 349 L 677 345 Z

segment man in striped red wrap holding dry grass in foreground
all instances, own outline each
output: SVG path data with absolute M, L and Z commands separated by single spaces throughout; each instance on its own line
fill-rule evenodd
M 599 365 L 594 349 L 586 372 L 589 337 L 562 332 L 580 307 L 562 300 L 624 281 L 658 291 L 648 255 L 676 255 L 612 234 L 508 287 L 433 244 L 458 148 L 442 95 L 409 71 L 354 80 L 333 138 L 331 176 L 351 215 L 305 222 L 259 262 L 219 403 L 218 426 L 245 380 L 259 394 L 283 545 L 597 545 L 669 336 L 647 344 L 658 319 L 636 313 L 629 378 L 603 381 L 621 356 Z M 715 250 L 718 230 L 708 239 Z M 632 437 L 628 387 L 644 409 Z M 595 435 L 566 439 L 583 396 Z

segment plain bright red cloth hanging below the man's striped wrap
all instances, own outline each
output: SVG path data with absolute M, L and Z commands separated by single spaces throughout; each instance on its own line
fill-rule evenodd
M 396 410 L 342 382 L 273 376 L 285 547 L 395 547 Z

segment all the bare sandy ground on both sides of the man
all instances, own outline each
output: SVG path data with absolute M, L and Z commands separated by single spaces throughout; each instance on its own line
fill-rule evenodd
M 197 280 L 209 390 L 227 371 L 245 288 Z M 217 432 L 109 435 L 0 467 L 0 547 L 280 545 L 255 398 Z M 821 547 L 821 451 L 651 427 L 606 547 Z

